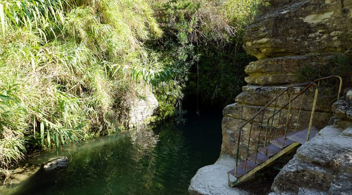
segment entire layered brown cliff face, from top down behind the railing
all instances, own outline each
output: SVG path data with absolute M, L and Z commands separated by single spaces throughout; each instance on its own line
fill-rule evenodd
M 330 65 L 337 54 L 352 48 L 352 0 L 271 0 L 264 14 L 248 26 L 245 33 L 245 50 L 259 60 L 251 62 L 245 69 L 249 75 L 243 92 L 236 98 L 237 103 L 223 110 L 221 152 L 236 156 L 239 128 L 266 103 L 276 97 L 285 87 L 297 83 L 296 71 L 300 68 L 324 67 Z M 295 87 L 278 99 L 277 107 L 284 105 L 299 92 Z M 313 125 L 317 129 L 328 124 L 331 117 L 332 92 L 320 89 Z M 310 91 L 292 103 L 289 114 L 288 132 L 308 127 L 314 92 Z M 301 107 L 302 102 L 302 107 Z M 300 120 L 297 116 L 300 108 Z M 255 118 L 252 137 L 258 138 L 261 118 L 274 111 L 274 103 L 264 116 Z M 278 132 L 286 128 L 287 109 L 282 112 Z M 240 152 L 246 150 L 248 132 L 246 125 L 241 132 Z M 263 130 L 263 129 L 262 129 Z M 263 133 L 261 134 L 263 136 Z M 251 138 L 250 151 L 256 148 Z M 243 160 L 244 156 L 240 156 Z

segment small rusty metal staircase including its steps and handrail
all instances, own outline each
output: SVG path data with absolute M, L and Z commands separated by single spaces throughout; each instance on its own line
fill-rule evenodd
M 342 88 L 342 78 L 339 76 L 330 76 L 316 79 L 312 82 L 290 85 L 240 127 L 237 137 L 236 166 L 233 170 L 227 172 L 228 182 L 231 187 L 253 176 L 280 156 L 295 150 L 301 144 L 315 136 L 317 131 L 312 124 L 319 93 L 319 83 L 330 78 L 339 79 L 340 83 L 337 93 L 337 99 L 339 99 Z M 309 101 L 305 99 L 305 94 L 312 88 L 315 88 L 315 94 L 311 110 L 309 110 L 310 119 L 308 127 L 306 126 L 302 130 L 303 125 L 300 123 L 302 104 L 303 101 Z M 289 94 L 289 100 L 278 108 L 278 100 L 283 99 L 284 94 Z M 294 119 L 291 110 L 295 100 L 295 103 L 298 103 L 297 105 L 300 106 L 294 128 L 292 129 L 289 127 L 289 122 L 292 122 Z M 300 101 L 297 102 L 297 100 Z M 267 113 L 272 114 L 266 116 Z M 256 126 L 259 132 L 252 131 L 253 126 Z M 299 126 L 301 130 L 298 130 Z M 245 132 L 244 128 L 249 129 L 249 131 Z M 249 136 L 244 140 L 242 137 L 244 137 L 245 133 Z M 242 143 L 241 147 L 240 143 Z M 243 159 L 241 163 L 239 162 L 239 158 Z

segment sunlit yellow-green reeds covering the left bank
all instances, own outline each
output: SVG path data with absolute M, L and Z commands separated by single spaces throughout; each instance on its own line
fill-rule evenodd
M 143 45 L 162 34 L 143 0 L 0 1 L 0 21 L 1 170 L 26 140 L 58 147 L 116 131 L 139 80 L 172 71 Z

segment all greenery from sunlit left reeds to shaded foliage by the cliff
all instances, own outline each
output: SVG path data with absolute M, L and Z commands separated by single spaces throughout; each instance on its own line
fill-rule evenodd
M 139 89 L 153 86 L 158 119 L 182 120 L 185 90 L 230 101 L 257 1 L 0 0 L 0 172 L 123 128 Z

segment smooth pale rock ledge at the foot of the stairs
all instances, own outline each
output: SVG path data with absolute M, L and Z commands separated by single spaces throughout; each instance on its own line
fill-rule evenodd
M 227 172 L 233 169 L 235 159 L 222 155 L 213 165 L 200 168 L 188 188 L 190 195 L 249 195 L 228 185 Z

